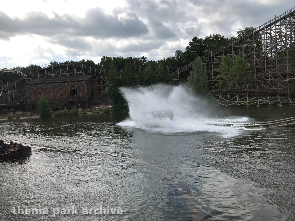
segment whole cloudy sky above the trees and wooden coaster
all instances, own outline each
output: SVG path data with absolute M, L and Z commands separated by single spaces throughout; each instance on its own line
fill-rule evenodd
M 0 0 L 0 68 L 102 56 L 158 60 L 194 37 L 236 35 L 294 0 Z

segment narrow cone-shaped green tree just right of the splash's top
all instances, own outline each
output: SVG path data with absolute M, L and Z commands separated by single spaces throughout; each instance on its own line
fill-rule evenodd
M 199 95 L 207 95 L 208 78 L 206 74 L 206 66 L 200 57 L 196 57 L 192 63 L 192 71 L 187 78 L 189 85 L 194 93 Z

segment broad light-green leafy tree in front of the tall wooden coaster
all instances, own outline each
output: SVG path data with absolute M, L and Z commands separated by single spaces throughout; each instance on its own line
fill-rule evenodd
M 216 87 L 233 88 L 239 84 L 244 86 L 246 81 L 252 79 L 250 65 L 240 55 L 235 56 L 235 60 L 229 55 L 222 55 L 221 65 L 216 71 L 219 72 L 217 79 L 220 79 Z

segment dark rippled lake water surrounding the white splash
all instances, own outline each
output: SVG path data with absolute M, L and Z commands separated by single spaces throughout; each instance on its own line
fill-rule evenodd
M 287 105 L 223 112 L 255 121 L 295 116 Z M 295 128 L 167 135 L 116 125 L 126 118 L 1 121 L 0 138 L 30 144 L 32 154 L 0 163 L 0 220 L 53 220 L 54 208 L 72 206 L 78 214 L 54 220 L 295 220 Z M 18 206 L 49 212 L 13 215 Z M 114 215 L 82 214 L 108 206 Z

